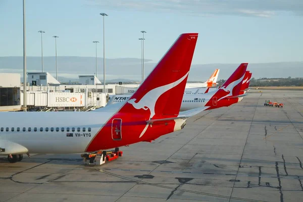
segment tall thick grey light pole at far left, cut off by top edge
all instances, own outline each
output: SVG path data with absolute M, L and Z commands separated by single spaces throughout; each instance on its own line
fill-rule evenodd
M 25 0 L 23 0 L 23 107 L 26 112 L 26 31 L 25 31 Z

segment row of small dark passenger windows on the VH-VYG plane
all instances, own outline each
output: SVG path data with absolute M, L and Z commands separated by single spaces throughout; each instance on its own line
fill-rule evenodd
M 0 131 L 3 132 L 4 129 L 5 129 L 6 132 L 9 132 L 10 129 L 11 129 L 11 132 L 15 131 L 14 127 L 12 127 L 12 128 L 9 128 L 9 127 L 4 128 L 4 127 L 2 127 L 2 128 L 0 128 Z M 33 128 L 34 132 L 36 132 L 37 130 L 38 130 L 38 128 L 36 128 L 36 127 Z M 74 128 L 74 127 L 73 128 L 64 128 L 64 127 L 62 127 L 62 128 L 58 128 L 58 127 L 57 128 L 53 128 L 53 127 L 52 128 L 48 128 L 48 127 L 46 127 L 46 128 L 42 128 L 42 127 L 39 128 L 40 132 L 43 132 L 43 131 L 45 131 L 45 132 L 48 132 L 48 131 L 54 132 L 55 130 L 56 130 L 56 132 L 59 132 L 59 130 L 61 130 L 61 132 L 64 132 L 64 131 L 66 131 L 66 132 L 70 132 L 70 131 L 72 131 L 72 132 L 75 132 L 75 131 L 80 132 L 81 128 L 79 128 L 79 127 L 78 128 Z M 17 132 L 21 131 L 21 128 L 17 127 L 16 131 Z M 31 127 L 28 127 L 28 128 L 23 127 L 22 131 L 23 132 L 25 132 L 25 131 L 31 132 L 32 128 Z M 86 128 L 82 128 L 82 132 L 85 132 L 85 131 L 86 131 Z M 90 132 L 90 131 L 91 131 L 91 128 L 87 128 L 87 132 Z

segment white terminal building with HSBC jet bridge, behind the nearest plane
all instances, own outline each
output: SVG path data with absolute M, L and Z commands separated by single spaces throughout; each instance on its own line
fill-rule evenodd
M 134 93 L 140 83 L 107 84 L 94 75 L 79 76 L 77 84 L 61 84 L 47 72 L 27 73 L 27 111 L 80 110 L 105 107 L 110 95 Z M 20 74 L 0 73 L 0 111 L 23 110 Z

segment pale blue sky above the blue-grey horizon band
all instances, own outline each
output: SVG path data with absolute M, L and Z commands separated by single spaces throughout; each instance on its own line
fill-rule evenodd
M 22 0 L 0 0 L 0 57 L 23 56 Z M 302 0 L 26 0 L 27 56 L 145 58 L 199 33 L 192 64 L 303 61 Z

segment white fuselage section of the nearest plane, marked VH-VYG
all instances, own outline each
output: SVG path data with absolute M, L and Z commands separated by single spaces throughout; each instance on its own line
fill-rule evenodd
M 5 141 L 11 141 L 30 148 L 30 153 L 84 153 L 89 142 L 112 115 L 112 112 L 2 112 L 0 128 L 4 131 L 0 131 L 0 147 L 8 143 Z M 29 128 L 31 131 L 28 131 Z M 48 131 L 45 131 L 46 128 Z M 51 131 L 52 128 L 54 131 Z M 69 137 L 67 133 L 73 133 L 73 136 Z M 10 148 L 7 147 L 5 154 L 10 154 Z

